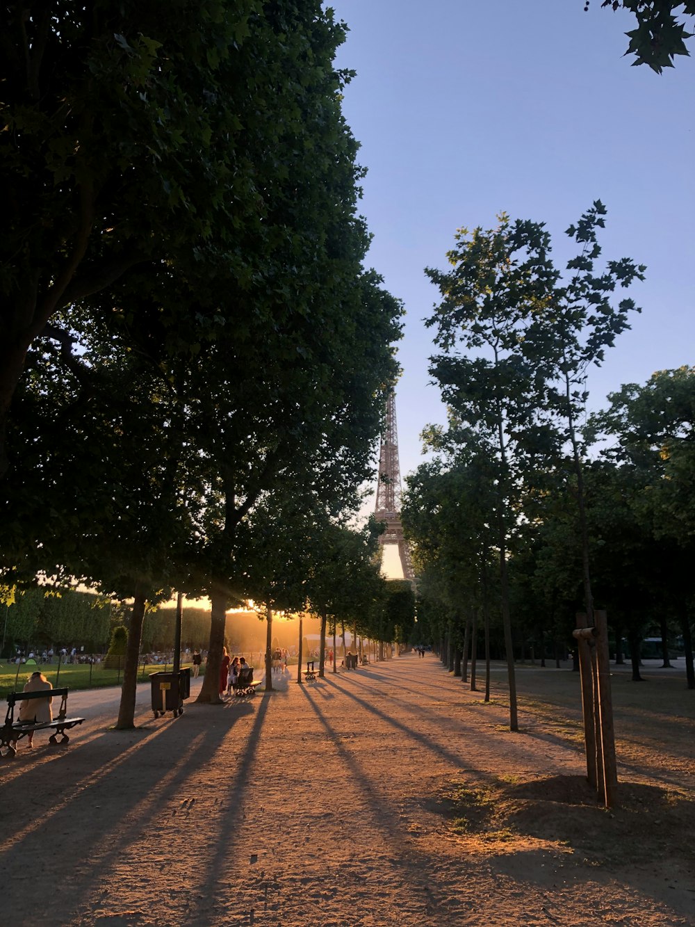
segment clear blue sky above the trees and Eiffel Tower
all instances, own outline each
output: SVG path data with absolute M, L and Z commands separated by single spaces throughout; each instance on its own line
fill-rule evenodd
M 600 198 L 603 255 L 647 264 L 631 294 L 632 330 L 589 375 L 590 406 L 655 370 L 695 364 L 695 57 L 662 76 L 623 57 L 625 12 L 591 0 L 335 0 L 347 22 L 339 67 L 357 71 L 344 113 L 368 169 L 360 211 L 367 263 L 407 311 L 398 347 L 401 474 L 421 462 L 420 432 L 443 422 L 429 386 L 437 298 L 457 228 L 501 210 L 563 230 Z M 695 56 L 695 44 L 691 43 Z M 373 503 L 372 503 L 373 504 Z

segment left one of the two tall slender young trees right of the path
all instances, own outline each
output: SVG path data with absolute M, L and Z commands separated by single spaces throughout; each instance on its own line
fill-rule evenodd
M 462 228 L 447 258 L 453 270 L 425 269 L 442 301 L 427 325 L 445 354 L 431 359 L 443 399 L 462 425 L 460 436 L 489 449 L 496 465 L 497 525 L 502 626 L 510 689 L 510 727 L 518 730 L 512 624 L 507 572 L 515 499 L 524 466 L 535 449 L 537 410 L 545 381 L 522 350 L 533 314 L 547 305 L 556 273 L 545 263 L 550 239 L 532 222 L 499 215 L 496 229 Z M 475 351 L 471 356 L 458 351 Z M 472 437 L 473 436 L 473 437 Z

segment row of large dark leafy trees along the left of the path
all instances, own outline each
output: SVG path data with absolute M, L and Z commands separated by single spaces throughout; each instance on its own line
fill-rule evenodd
M 362 266 L 345 30 L 319 0 L 10 12 L 0 568 L 7 595 L 44 571 L 133 599 L 129 727 L 172 589 L 211 600 L 214 702 L 228 607 L 303 607 L 311 579 L 327 614 L 311 571 L 344 537 L 369 561 L 346 518 L 402 310 Z

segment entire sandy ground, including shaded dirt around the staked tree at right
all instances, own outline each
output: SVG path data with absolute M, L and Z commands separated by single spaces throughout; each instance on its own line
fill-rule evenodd
M 110 730 L 75 692 L 69 745 L 0 762 L 15 925 L 695 924 L 695 692 L 613 676 L 621 806 L 585 779 L 579 681 L 519 667 L 493 700 L 428 655 Z

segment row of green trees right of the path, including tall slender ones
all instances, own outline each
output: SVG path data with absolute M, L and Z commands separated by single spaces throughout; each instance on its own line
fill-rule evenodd
M 512 613 L 537 641 L 566 641 L 577 609 L 592 623 L 598 594 L 618 639 L 673 616 L 689 641 L 695 372 L 625 387 L 579 426 L 588 368 L 637 311 L 614 294 L 645 270 L 600 265 L 604 215 L 597 201 L 567 230 L 579 245 L 569 273 L 542 224 L 506 215 L 462 229 L 452 269 L 427 271 L 442 295 L 428 324 L 449 427 L 425 434 L 436 456 L 408 478 L 403 523 L 425 610 L 457 629 L 459 646 L 472 617 L 501 617 L 512 730 Z

